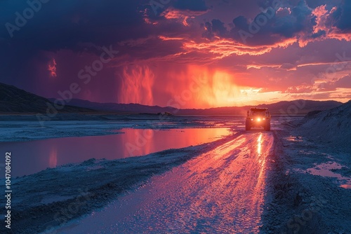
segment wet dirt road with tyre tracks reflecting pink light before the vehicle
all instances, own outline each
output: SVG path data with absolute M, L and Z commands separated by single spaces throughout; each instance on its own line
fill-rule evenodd
M 271 132 L 244 132 L 58 233 L 258 233 Z

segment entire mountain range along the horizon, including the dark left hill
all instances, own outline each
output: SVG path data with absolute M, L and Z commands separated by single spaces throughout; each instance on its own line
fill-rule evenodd
M 53 106 L 55 99 L 34 95 L 13 85 L 0 83 L 0 113 L 46 113 L 48 106 Z M 65 106 L 57 109 L 58 113 L 164 113 L 173 115 L 245 115 L 251 106 L 226 106 L 210 109 L 176 109 L 171 106 L 147 106 L 142 104 L 117 104 L 89 102 L 82 99 L 65 100 Z M 304 115 L 309 111 L 324 111 L 341 102 L 312 101 L 298 99 L 273 104 L 260 104 L 257 107 L 268 108 L 273 115 Z

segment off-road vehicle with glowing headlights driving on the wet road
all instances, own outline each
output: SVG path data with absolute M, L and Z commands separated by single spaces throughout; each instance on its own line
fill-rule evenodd
M 252 107 L 247 111 L 245 130 L 263 127 L 265 131 L 270 131 L 270 111 L 267 108 Z

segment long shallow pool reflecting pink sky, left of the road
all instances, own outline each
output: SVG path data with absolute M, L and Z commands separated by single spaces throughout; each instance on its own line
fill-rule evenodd
M 204 144 L 230 134 L 227 128 L 171 130 L 126 128 L 118 132 L 121 134 L 65 137 L 32 142 L 3 142 L 0 143 L 0 151 L 11 149 L 12 176 L 18 177 L 45 170 L 47 167 L 80 163 L 90 158 L 112 160 Z M 4 158 L 2 157 L 1 160 Z M 4 175 L 1 174 L 0 178 L 4 178 Z

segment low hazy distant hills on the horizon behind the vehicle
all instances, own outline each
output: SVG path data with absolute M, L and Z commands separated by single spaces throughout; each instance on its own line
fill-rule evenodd
M 51 99 L 53 100 L 53 99 Z M 81 99 L 72 99 L 69 104 L 98 111 L 113 111 L 127 113 L 159 113 L 169 112 L 178 115 L 245 115 L 251 106 L 227 106 L 210 109 L 176 109 L 171 106 L 146 106 L 141 104 L 117 104 L 89 102 Z M 260 104 L 258 107 L 268 108 L 273 115 L 305 115 L 310 111 L 324 111 L 340 106 L 342 102 L 295 100 L 282 101 L 273 104 Z

